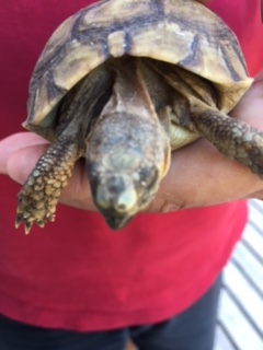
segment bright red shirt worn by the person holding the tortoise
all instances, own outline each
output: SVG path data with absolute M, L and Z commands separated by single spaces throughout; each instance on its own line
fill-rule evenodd
M 0 8 L 0 138 L 21 130 L 27 84 L 57 25 L 88 0 L 9 0 Z M 215 0 L 250 72 L 263 69 L 260 0 Z M 244 202 L 138 215 L 113 234 L 98 213 L 59 206 L 55 223 L 14 230 L 20 186 L 0 178 L 0 313 L 52 328 L 113 329 L 165 319 L 194 303 L 229 258 Z

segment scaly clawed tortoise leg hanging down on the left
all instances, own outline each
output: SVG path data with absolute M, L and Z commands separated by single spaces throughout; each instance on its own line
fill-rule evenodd
M 68 184 L 80 152 L 71 137 L 61 136 L 36 163 L 19 192 L 15 226 L 24 222 L 25 233 L 33 223 L 44 226 L 54 221 L 58 197 Z

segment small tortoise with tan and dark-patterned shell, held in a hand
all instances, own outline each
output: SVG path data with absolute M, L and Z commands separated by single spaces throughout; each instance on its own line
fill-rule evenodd
M 194 0 L 104 0 L 66 20 L 34 69 L 25 128 L 52 143 L 16 226 L 54 221 L 79 158 L 112 230 L 155 198 L 170 153 L 198 138 L 263 174 L 263 133 L 227 114 L 252 83 L 230 28 Z

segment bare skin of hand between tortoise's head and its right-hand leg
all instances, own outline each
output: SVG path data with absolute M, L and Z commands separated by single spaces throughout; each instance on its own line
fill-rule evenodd
M 149 211 L 219 205 L 248 198 L 262 188 L 263 182 L 256 175 L 199 140 L 172 153 L 171 168 Z

